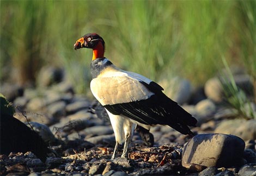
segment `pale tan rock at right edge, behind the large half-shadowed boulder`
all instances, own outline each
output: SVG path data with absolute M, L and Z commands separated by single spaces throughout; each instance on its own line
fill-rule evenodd
M 242 125 L 241 125 L 242 124 Z M 215 133 L 231 134 L 241 137 L 243 140 L 256 139 L 256 120 L 227 120 L 222 121 L 214 131 Z

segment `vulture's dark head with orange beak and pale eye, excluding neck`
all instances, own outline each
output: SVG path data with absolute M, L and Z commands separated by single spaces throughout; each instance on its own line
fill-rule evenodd
M 105 42 L 101 36 L 96 33 L 90 33 L 82 36 L 78 39 L 74 45 L 74 49 L 80 48 L 91 48 L 94 49 L 97 47 L 98 44 L 101 44 L 104 48 Z

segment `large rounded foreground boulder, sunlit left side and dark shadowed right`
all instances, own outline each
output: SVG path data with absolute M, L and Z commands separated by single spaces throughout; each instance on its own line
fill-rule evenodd
M 182 166 L 191 164 L 206 167 L 228 167 L 242 164 L 245 142 L 237 136 L 225 134 L 199 134 L 184 147 Z

